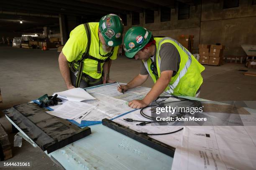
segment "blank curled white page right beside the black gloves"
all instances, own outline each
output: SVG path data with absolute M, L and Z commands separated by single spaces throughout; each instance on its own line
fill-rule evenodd
M 95 99 L 94 97 L 92 97 L 92 95 L 90 95 L 87 91 L 85 91 L 82 88 L 73 88 L 63 92 L 55 92 L 54 94 L 57 94 L 58 97 L 67 99 L 69 101 L 75 101 L 75 102 L 80 102 L 82 100 Z

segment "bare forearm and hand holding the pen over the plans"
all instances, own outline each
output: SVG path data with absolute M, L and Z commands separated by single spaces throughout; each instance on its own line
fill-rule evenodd
M 131 80 L 130 82 L 127 83 L 127 85 L 120 85 L 120 87 L 118 87 L 118 91 L 122 92 L 123 91 L 127 91 L 128 89 L 137 87 L 142 85 L 146 80 L 148 79 L 148 74 L 147 75 L 141 75 L 138 74 L 136 77 L 133 78 L 133 80 Z

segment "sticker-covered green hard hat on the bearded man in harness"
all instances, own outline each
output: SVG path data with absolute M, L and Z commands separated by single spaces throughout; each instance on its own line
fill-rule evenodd
M 122 44 L 123 21 L 118 15 L 105 15 L 100 19 L 99 27 L 108 46 L 115 47 Z

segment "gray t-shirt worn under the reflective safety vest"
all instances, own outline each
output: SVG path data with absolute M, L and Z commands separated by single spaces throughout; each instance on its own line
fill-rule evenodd
M 180 55 L 177 48 L 169 43 L 166 42 L 161 45 L 161 49 L 159 51 L 161 57 L 161 65 L 160 65 L 160 72 L 166 70 L 173 70 L 172 77 L 177 74 L 179 70 L 179 63 L 180 63 Z M 155 55 L 156 55 L 156 48 L 155 48 Z M 147 75 L 148 71 L 146 70 L 145 65 L 141 62 L 140 66 L 140 74 Z

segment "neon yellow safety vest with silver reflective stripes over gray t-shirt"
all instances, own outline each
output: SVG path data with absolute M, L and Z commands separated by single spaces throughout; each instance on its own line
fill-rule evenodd
M 169 85 L 166 87 L 165 91 L 172 95 L 183 95 L 183 96 L 195 96 L 197 90 L 201 86 L 203 79 L 201 72 L 205 70 L 205 67 L 202 66 L 195 57 L 178 41 L 169 38 L 154 38 L 156 40 L 156 68 L 157 68 L 157 76 L 154 75 L 151 70 L 151 59 L 149 58 L 147 61 L 143 61 L 149 75 L 153 79 L 154 83 L 158 77 L 160 77 L 160 65 L 161 65 L 161 56 L 159 51 L 161 49 L 161 45 L 168 42 L 173 44 L 180 55 L 180 64 L 179 70 L 176 75 L 171 78 Z

